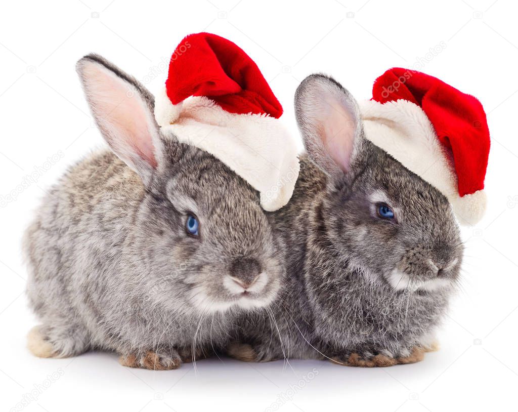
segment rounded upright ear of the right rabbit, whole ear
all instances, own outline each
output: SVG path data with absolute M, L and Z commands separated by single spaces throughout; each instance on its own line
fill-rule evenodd
M 354 97 L 331 77 L 306 77 L 295 93 L 295 116 L 309 157 L 329 176 L 348 173 L 363 125 Z

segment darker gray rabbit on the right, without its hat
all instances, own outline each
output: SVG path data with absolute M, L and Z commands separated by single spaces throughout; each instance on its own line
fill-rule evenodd
M 290 251 L 287 279 L 268 317 L 240 320 L 228 352 L 418 361 L 459 278 L 464 248 L 451 206 L 366 139 L 356 101 L 334 79 L 306 78 L 295 110 L 308 156 L 290 203 L 274 214 Z

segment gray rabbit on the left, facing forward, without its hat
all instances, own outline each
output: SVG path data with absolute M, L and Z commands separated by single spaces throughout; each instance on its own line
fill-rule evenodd
M 258 192 L 212 155 L 164 135 L 153 96 L 97 55 L 77 64 L 112 151 L 74 165 L 25 234 L 40 357 L 113 350 L 126 366 L 177 368 L 223 346 L 269 304 L 283 248 Z

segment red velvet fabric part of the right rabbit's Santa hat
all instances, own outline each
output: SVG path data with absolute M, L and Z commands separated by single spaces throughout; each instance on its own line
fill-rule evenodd
M 490 135 L 484 109 L 475 97 L 435 77 L 395 67 L 376 79 L 372 99 L 379 103 L 403 99 L 420 106 L 453 156 L 459 195 L 484 188 Z

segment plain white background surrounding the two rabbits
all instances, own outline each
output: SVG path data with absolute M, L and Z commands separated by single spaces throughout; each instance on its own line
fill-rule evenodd
M 511 0 L 3 2 L 0 196 L 14 190 L 17 197 L 0 207 L 2 410 L 17 404 L 20 409 L 31 391 L 36 396 L 24 409 L 49 412 L 261 411 L 276 403 L 286 412 L 514 409 L 517 12 Z M 122 367 L 110 353 L 44 360 L 27 351 L 25 335 L 36 320 L 24 296 L 22 232 L 50 184 L 102 144 L 75 62 L 83 54 L 100 53 L 156 91 L 164 77 L 151 80 L 152 68 L 169 59 L 184 35 L 201 31 L 227 37 L 250 54 L 282 102 L 284 121 L 294 133 L 293 94 L 313 72 L 332 74 L 357 98 L 369 98 L 373 80 L 385 69 L 415 68 L 421 62 L 422 71 L 482 102 L 492 137 L 489 205 L 485 219 L 463 232 L 463 289 L 440 331 L 438 352 L 418 364 L 371 370 L 320 361 L 286 365 L 213 359 L 198 362 L 197 371 L 183 365 L 152 372 Z M 431 54 L 430 48 L 441 42 L 442 50 Z M 36 173 L 37 181 L 20 192 L 24 176 L 56 153 L 63 157 Z M 49 378 L 52 373 L 59 378 Z M 304 377 L 308 382 L 299 385 Z

